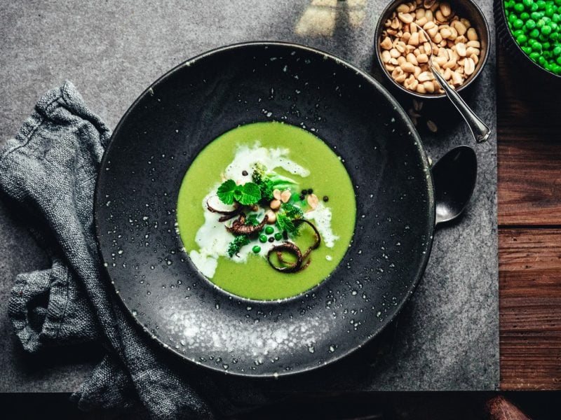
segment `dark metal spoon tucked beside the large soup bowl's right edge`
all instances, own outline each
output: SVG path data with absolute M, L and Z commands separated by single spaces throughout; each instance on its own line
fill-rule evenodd
M 475 187 L 478 160 L 473 148 L 458 146 L 442 156 L 431 171 L 438 225 L 454 220 L 466 208 Z

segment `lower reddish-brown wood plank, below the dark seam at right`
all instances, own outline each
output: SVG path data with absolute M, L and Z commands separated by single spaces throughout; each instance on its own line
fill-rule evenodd
M 561 388 L 561 229 L 499 230 L 501 388 Z

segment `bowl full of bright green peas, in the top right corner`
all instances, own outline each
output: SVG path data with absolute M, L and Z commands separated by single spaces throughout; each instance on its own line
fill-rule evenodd
M 494 15 L 508 52 L 561 80 L 561 0 L 495 0 Z

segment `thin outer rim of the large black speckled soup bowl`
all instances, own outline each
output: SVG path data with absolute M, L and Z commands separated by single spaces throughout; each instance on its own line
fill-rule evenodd
M 433 248 L 433 241 L 434 241 L 435 225 L 436 225 L 436 223 L 435 223 L 435 216 L 436 216 L 435 193 L 434 193 L 433 176 L 432 176 L 432 172 L 430 170 L 430 165 L 428 163 L 428 157 L 426 155 L 424 144 L 421 141 L 421 137 L 419 136 L 419 133 L 417 132 L 417 129 L 414 127 L 410 117 L 405 112 L 405 109 L 403 109 L 403 107 L 399 104 L 397 99 L 395 97 L 393 97 L 393 95 L 386 89 L 386 87 L 384 87 L 384 85 L 382 85 L 378 80 L 376 80 L 374 77 L 372 77 L 372 75 L 367 73 L 367 71 L 364 71 L 363 69 L 358 68 L 358 66 L 355 66 L 355 65 L 351 64 L 350 62 L 346 61 L 346 59 L 339 58 L 339 57 L 337 57 L 337 55 L 334 55 L 330 52 L 326 52 L 324 50 L 320 50 L 319 48 L 313 48 L 313 47 L 310 47 L 308 45 L 303 45 L 303 44 L 293 43 L 293 42 L 288 42 L 288 41 L 244 41 L 244 42 L 240 42 L 240 43 L 232 43 L 232 44 L 228 44 L 228 45 L 222 45 L 222 46 L 219 46 L 219 47 L 216 47 L 216 48 L 212 48 L 210 50 L 206 50 L 205 52 L 201 52 L 200 54 L 195 55 L 194 57 L 190 57 L 190 58 L 184 60 L 184 62 L 182 62 L 180 64 L 177 64 L 177 66 L 174 66 L 172 69 L 163 73 L 162 76 L 159 76 L 153 83 L 151 83 L 133 101 L 133 103 L 123 113 L 123 116 L 121 116 L 121 119 L 119 120 L 119 123 L 117 123 L 114 131 L 111 134 L 111 138 L 109 139 L 109 142 L 107 143 L 107 146 L 105 147 L 105 150 L 104 150 L 104 153 L 103 153 L 103 156 L 102 156 L 102 160 L 100 162 L 100 168 L 102 169 L 102 168 L 107 166 L 108 159 L 109 159 L 109 152 L 111 151 L 111 148 L 115 147 L 114 139 L 120 133 L 121 127 L 123 126 L 123 122 L 126 120 L 126 118 L 128 118 L 129 114 L 132 113 L 137 108 L 138 104 L 140 104 L 142 99 L 144 99 L 144 97 L 146 97 L 147 95 L 150 94 L 150 92 L 152 91 L 152 89 L 154 87 L 157 87 L 157 85 L 159 85 L 160 83 L 165 82 L 165 80 L 170 78 L 170 76 L 173 76 L 175 73 L 177 73 L 177 71 L 180 71 L 184 66 L 191 66 L 191 65 L 195 64 L 198 60 L 205 59 L 205 57 L 209 57 L 211 55 L 215 55 L 217 53 L 224 52 L 224 51 L 236 50 L 237 48 L 246 48 L 246 47 L 252 47 L 252 46 L 261 46 L 261 47 L 264 47 L 264 48 L 269 48 L 269 46 L 273 46 L 273 47 L 274 46 L 280 46 L 280 47 L 295 48 L 297 50 L 305 50 L 305 51 L 308 51 L 308 52 L 313 52 L 315 54 L 323 55 L 325 57 L 325 59 L 330 59 L 333 62 L 335 62 L 337 64 L 340 64 L 342 66 L 345 66 L 349 70 L 355 71 L 357 74 L 360 74 L 360 76 L 362 76 L 365 79 L 365 81 L 367 81 L 367 83 L 370 83 L 370 85 L 374 85 L 374 87 L 376 87 L 376 89 L 379 90 L 379 92 L 382 95 L 384 95 L 384 97 L 386 97 L 386 99 L 388 100 L 388 102 L 390 102 L 390 104 L 393 104 L 394 109 L 396 110 L 396 112 L 398 114 L 400 114 L 400 116 L 403 118 L 403 120 L 405 122 L 405 125 L 407 125 L 407 128 L 411 131 L 412 137 L 414 137 L 414 145 L 417 148 L 417 151 L 419 152 L 419 157 L 421 158 L 421 162 L 423 163 L 424 167 L 428 169 L 427 178 L 426 178 L 426 183 L 428 185 L 428 195 L 427 195 L 428 215 L 427 216 L 428 216 L 428 221 L 429 221 L 428 227 L 427 227 L 427 232 L 426 232 L 427 239 L 426 239 L 425 244 L 424 244 L 424 249 L 423 249 L 423 253 L 422 253 L 419 265 L 417 266 L 417 269 L 415 270 L 414 276 L 412 276 L 412 281 L 410 282 L 410 285 L 407 288 L 407 292 L 405 293 L 405 297 L 403 297 L 403 299 L 400 300 L 400 302 L 398 302 L 398 304 L 396 305 L 396 311 L 393 312 L 393 314 L 384 318 L 384 321 L 382 322 L 384 325 L 382 325 L 370 337 L 365 339 L 362 344 L 360 344 L 358 346 L 354 346 L 354 347 L 352 347 L 350 349 L 347 349 L 346 351 L 343 351 L 341 353 L 338 353 L 334 357 L 330 358 L 330 360 L 327 360 L 327 362 L 324 365 L 309 365 L 309 366 L 303 367 L 301 369 L 290 370 L 289 372 L 285 372 L 285 371 L 278 372 L 277 376 L 275 376 L 274 374 L 267 374 L 267 373 L 265 373 L 265 374 L 251 374 L 249 372 L 243 372 L 242 373 L 242 372 L 234 372 L 234 371 L 224 371 L 224 370 L 221 370 L 219 367 L 216 367 L 216 366 L 206 365 L 206 364 L 205 365 L 200 365 L 200 364 L 194 362 L 194 360 L 191 360 L 190 358 L 184 356 L 184 354 L 179 353 L 173 347 L 168 346 L 168 344 L 165 344 L 165 342 L 163 342 L 163 340 L 160 337 L 153 336 L 151 334 L 151 332 L 149 331 L 149 328 L 147 328 L 147 326 L 144 325 L 140 321 L 139 318 L 137 318 L 136 316 L 133 316 L 130 313 L 129 306 L 128 306 L 127 302 L 125 302 L 123 296 L 120 293 L 115 293 L 116 290 L 117 290 L 117 285 L 115 283 L 110 284 L 110 288 L 114 292 L 114 296 L 116 296 L 116 300 L 121 305 L 121 308 L 125 312 L 126 316 L 129 319 L 132 318 L 133 323 L 137 327 L 140 327 L 140 330 L 142 330 L 145 334 L 147 334 L 149 339 L 151 339 L 152 342 L 156 342 L 156 344 L 158 344 L 160 346 L 160 348 L 168 350 L 169 355 L 173 355 L 175 357 L 178 357 L 180 360 L 187 361 L 187 363 L 190 363 L 190 364 L 193 364 L 193 365 L 199 365 L 199 366 L 204 367 L 205 369 L 212 370 L 214 372 L 220 372 L 222 374 L 227 374 L 229 376 L 246 377 L 246 378 L 252 378 L 252 379 L 273 379 L 273 378 L 276 379 L 276 377 L 293 377 L 297 374 L 302 374 L 304 372 L 310 372 L 310 371 L 316 370 L 318 368 L 324 367 L 326 365 L 332 365 L 333 363 L 337 362 L 338 360 L 346 358 L 351 353 L 354 353 L 355 351 L 360 349 L 360 347 L 365 346 L 369 342 L 372 342 L 374 337 L 379 336 L 379 334 L 383 330 L 385 330 L 388 327 L 388 325 L 390 325 L 393 322 L 394 319 L 396 319 L 396 317 L 401 313 L 401 311 L 403 311 L 403 308 L 410 301 L 414 291 L 417 290 L 417 287 L 419 286 L 421 278 L 424 275 L 424 273 L 426 272 L 426 267 L 428 265 L 428 260 L 431 256 L 431 251 L 432 251 L 432 248 Z M 100 172 L 96 176 L 95 190 L 94 190 L 94 196 L 93 196 L 93 225 L 94 225 L 94 229 L 95 229 L 95 243 L 96 243 L 97 252 L 100 255 L 100 261 L 101 262 L 106 262 L 105 259 L 104 259 L 104 253 L 102 251 L 102 244 L 101 244 L 101 240 L 100 240 L 100 228 L 101 228 L 101 226 L 100 226 L 100 215 L 98 214 L 99 210 L 100 210 L 100 205 L 98 203 L 101 202 L 101 196 L 102 196 L 101 191 L 100 191 L 101 190 L 101 182 L 100 181 L 101 181 L 102 177 L 104 176 L 104 173 L 105 173 L 104 170 L 100 170 Z M 109 274 L 109 269 L 108 269 L 107 266 L 102 264 L 101 271 L 108 281 L 111 280 L 111 275 Z M 318 286 L 314 286 L 314 288 L 318 287 Z M 311 289 L 311 290 L 313 290 L 313 289 Z M 227 292 L 224 292 L 224 293 L 227 293 Z M 300 296 L 300 295 L 298 295 L 298 296 Z M 263 302 L 269 302 L 269 303 L 274 304 L 274 302 L 276 302 L 276 301 L 263 301 Z

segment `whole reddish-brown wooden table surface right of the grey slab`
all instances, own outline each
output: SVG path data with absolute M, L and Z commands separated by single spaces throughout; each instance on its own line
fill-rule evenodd
M 498 55 L 501 388 L 561 388 L 561 87 Z

